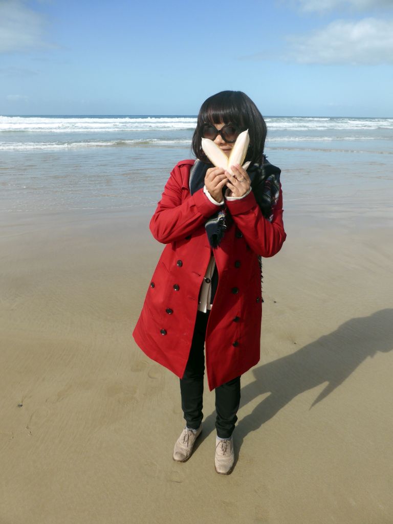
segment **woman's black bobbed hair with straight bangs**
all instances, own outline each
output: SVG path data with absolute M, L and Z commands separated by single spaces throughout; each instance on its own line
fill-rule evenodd
M 266 139 L 266 123 L 257 106 L 243 91 L 221 91 L 206 99 L 199 111 L 191 149 L 202 162 L 209 162 L 202 150 L 201 127 L 204 123 L 235 124 L 248 129 L 250 145 L 246 161 L 262 163 Z

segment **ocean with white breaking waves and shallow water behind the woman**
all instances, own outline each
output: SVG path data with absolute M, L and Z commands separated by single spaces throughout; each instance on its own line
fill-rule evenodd
M 393 118 L 265 119 L 286 209 L 386 216 Z M 0 116 L 0 211 L 153 211 L 173 166 L 193 157 L 195 124 L 180 115 Z

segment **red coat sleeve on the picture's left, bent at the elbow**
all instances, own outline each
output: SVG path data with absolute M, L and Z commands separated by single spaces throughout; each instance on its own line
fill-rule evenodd
M 183 166 L 184 168 L 188 168 L 189 174 L 190 166 Z M 182 192 L 189 192 L 189 188 L 188 184 L 185 187 L 182 183 L 181 169 L 179 163 L 172 170 L 150 220 L 150 231 L 162 244 L 183 239 L 217 212 L 217 206 L 209 201 L 203 189 L 195 191 L 182 202 Z

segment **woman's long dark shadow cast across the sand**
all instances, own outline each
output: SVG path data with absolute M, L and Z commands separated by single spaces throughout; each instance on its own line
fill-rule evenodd
M 393 350 L 393 309 L 348 320 L 329 335 L 253 370 L 255 381 L 241 390 L 241 407 L 270 392 L 239 420 L 237 450 L 245 436 L 275 416 L 294 397 L 327 382 L 310 409 L 331 394 L 367 358 Z M 263 348 L 262 350 L 263 351 Z M 215 411 L 204 421 L 204 438 L 214 430 Z

